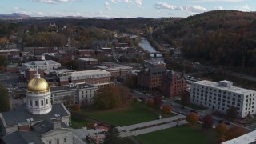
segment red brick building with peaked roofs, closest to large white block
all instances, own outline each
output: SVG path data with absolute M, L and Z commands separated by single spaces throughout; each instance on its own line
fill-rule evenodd
M 182 97 L 186 91 L 186 80 L 182 74 L 170 70 L 162 75 L 161 93 L 166 97 Z

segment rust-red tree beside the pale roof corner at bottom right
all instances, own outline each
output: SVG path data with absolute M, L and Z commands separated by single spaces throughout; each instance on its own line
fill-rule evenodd
M 243 134 L 246 134 L 246 130 L 241 126 L 232 126 L 226 132 L 226 140 L 237 138 Z

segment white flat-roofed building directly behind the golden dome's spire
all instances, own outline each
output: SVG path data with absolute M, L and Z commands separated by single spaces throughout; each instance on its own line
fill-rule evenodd
M 30 62 L 22 63 L 22 70 L 36 68 L 37 66 L 38 66 L 38 70 L 44 70 L 45 73 L 49 74 L 50 71 L 58 70 L 58 68 L 61 68 L 62 65 L 53 60 L 30 61 Z

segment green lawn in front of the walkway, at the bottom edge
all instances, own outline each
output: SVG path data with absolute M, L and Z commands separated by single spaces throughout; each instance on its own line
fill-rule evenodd
M 201 125 L 197 127 L 182 125 L 149 134 L 138 135 L 136 138 L 142 144 L 215 144 L 218 140 L 214 130 L 202 130 Z

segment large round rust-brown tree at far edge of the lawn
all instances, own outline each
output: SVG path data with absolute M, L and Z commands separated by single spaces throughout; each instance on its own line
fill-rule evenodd
M 94 96 L 94 106 L 102 110 L 122 106 L 122 99 L 118 87 L 104 86 L 99 88 Z

